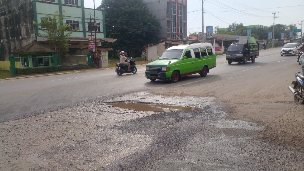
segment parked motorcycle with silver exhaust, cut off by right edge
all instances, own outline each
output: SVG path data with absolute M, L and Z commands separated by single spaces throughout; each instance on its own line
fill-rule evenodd
M 304 104 L 304 76 L 301 72 L 295 73 L 295 81 L 288 89 L 292 92 L 296 104 Z

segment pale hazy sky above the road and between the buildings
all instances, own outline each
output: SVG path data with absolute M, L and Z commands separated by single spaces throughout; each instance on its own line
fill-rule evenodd
M 101 0 L 95 0 L 95 8 L 100 4 Z M 93 6 L 93 0 L 85 0 L 85 7 Z M 278 16 L 275 24 L 296 24 L 301 28 L 299 21 L 304 20 L 303 0 L 205 0 L 204 10 L 204 26 L 220 28 L 228 27 L 233 22 L 243 23 L 245 26 L 271 26 L 273 12 L 279 12 L 275 14 Z M 187 1 L 187 27 L 187 34 L 202 31 L 202 1 Z

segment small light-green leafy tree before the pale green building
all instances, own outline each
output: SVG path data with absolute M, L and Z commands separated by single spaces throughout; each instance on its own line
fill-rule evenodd
M 41 19 L 41 23 L 35 23 L 35 25 L 41 26 L 43 33 L 40 36 L 46 37 L 50 45 L 55 49 L 56 54 L 64 55 L 69 50 L 71 44 L 68 43 L 71 34 L 78 30 L 70 30 L 70 26 L 63 24 L 63 17 L 56 11 L 54 15 L 46 15 L 46 18 Z M 65 33 L 67 30 L 69 32 Z

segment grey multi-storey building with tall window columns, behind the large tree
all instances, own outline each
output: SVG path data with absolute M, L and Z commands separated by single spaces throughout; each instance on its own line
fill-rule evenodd
M 159 19 L 162 40 L 187 39 L 187 0 L 144 0 L 149 12 Z

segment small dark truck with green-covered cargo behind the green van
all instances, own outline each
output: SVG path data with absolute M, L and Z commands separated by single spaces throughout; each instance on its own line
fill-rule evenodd
M 226 60 L 230 65 L 232 62 L 243 62 L 247 64 L 247 61 L 255 62 L 255 58 L 259 55 L 259 47 L 254 37 L 241 36 L 239 43 L 230 44 L 226 52 Z

